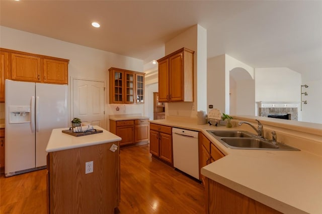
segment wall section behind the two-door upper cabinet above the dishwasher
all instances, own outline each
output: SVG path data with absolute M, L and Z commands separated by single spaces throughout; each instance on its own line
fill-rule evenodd
M 166 103 L 166 116 L 183 116 L 183 117 L 197 117 L 197 109 L 205 109 L 206 100 L 202 97 L 198 99 L 198 95 L 207 94 L 205 86 L 200 86 L 206 82 L 205 68 L 207 67 L 206 56 L 207 49 L 206 30 L 199 25 L 189 28 L 187 31 L 181 33 L 177 37 L 168 41 L 165 45 L 165 54 L 171 54 L 181 48 L 188 48 L 195 51 L 194 53 L 194 102 L 178 102 Z M 199 70 L 200 69 L 200 70 Z M 200 72 L 200 74 L 199 74 Z M 198 85 L 198 87 L 197 87 Z M 200 103 L 198 103 L 200 102 Z M 200 108 L 198 108 L 200 105 Z

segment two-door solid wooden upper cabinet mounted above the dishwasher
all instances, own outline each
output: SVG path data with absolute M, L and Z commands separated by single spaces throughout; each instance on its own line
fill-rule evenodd
M 182 48 L 157 60 L 160 102 L 193 102 L 193 54 Z

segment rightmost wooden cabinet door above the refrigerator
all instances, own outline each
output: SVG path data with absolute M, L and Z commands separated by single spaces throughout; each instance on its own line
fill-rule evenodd
M 68 62 L 44 59 L 43 82 L 54 84 L 68 84 Z

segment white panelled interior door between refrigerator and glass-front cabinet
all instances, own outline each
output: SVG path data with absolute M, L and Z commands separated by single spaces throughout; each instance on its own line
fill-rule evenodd
M 105 82 L 73 79 L 73 117 L 106 129 Z

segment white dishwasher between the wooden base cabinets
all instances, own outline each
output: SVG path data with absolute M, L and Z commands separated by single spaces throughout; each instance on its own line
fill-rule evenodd
M 173 165 L 199 179 L 198 132 L 172 128 Z

